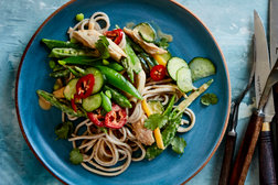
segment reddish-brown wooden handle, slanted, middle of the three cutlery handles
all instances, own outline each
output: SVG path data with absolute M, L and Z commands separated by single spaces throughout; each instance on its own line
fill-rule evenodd
M 258 141 L 263 119 L 264 115 L 260 112 L 255 112 L 252 115 L 232 171 L 229 179 L 231 185 L 244 185 L 254 150 Z

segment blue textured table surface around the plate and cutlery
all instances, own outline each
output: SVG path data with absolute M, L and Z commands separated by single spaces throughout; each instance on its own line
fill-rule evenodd
M 232 98 L 248 80 L 252 62 L 253 11 L 267 24 L 266 0 L 178 0 L 195 13 L 212 31 L 227 62 Z M 0 184 L 61 184 L 35 159 L 26 145 L 14 108 L 15 77 L 21 55 L 40 24 L 67 0 L 0 1 Z M 26 105 L 28 106 L 28 105 Z M 239 109 L 238 141 L 254 108 L 254 89 Z M 236 146 L 238 149 L 238 145 Z M 236 150 L 237 151 L 237 150 Z M 224 144 L 189 184 L 217 184 Z M 246 184 L 259 184 L 257 151 Z

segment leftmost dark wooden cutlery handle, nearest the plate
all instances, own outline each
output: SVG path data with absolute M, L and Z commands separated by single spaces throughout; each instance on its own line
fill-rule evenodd
M 235 151 L 236 132 L 229 131 L 226 138 L 225 152 L 221 168 L 220 185 L 228 185 L 228 178 L 232 170 L 232 161 Z

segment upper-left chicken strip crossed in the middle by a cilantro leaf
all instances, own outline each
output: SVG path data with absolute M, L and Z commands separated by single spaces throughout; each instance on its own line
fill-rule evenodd
M 101 36 L 98 31 L 96 30 L 78 30 L 73 32 L 73 37 L 83 43 L 83 45 L 96 48 L 96 42 L 99 40 L 99 36 Z M 117 45 L 115 44 L 110 39 L 107 37 L 107 41 L 109 42 L 108 51 L 110 56 L 119 62 L 122 57 L 127 57 L 127 54 Z

